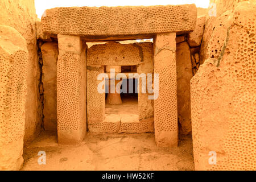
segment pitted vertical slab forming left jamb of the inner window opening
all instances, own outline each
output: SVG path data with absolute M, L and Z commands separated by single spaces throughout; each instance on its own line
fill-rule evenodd
M 98 75 L 104 73 L 103 66 L 87 66 L 87 114 L 90 122 L 101 122 L 105 119 L 105 93 L 98 92 Z

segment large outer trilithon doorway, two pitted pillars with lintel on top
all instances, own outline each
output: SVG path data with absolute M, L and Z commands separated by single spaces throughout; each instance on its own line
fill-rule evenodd
M 89 86 L 86 85 L 85 42 L 154 38 L 154 73 L 159 74 L 159 96 L 154 101 L 155 140 L 161 147 L 177 146 L 175 39 L 176 34 L 194 30 L 196 16 L 195 5 L 46 10 L 42 16 L 42 31 L 57 37 L 60 52 L 57 61 L 58 142 L 77 144 L 85 137 L 85 90 Z

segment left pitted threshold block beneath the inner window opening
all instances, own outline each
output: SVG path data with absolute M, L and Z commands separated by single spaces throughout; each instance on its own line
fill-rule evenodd
M 118 133 L 120 121 L 120 115 L 106 114 L 102 122 L 89 122 L 88 129 L 91 133 Z

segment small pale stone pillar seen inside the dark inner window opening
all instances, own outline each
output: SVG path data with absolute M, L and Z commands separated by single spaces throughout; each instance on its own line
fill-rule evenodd
M 121 73 L 121 66 L 107 66 L 106 67 L 106 72 L 110 73 L 111 69 L 114 69 L 115 72 L 114 73 Z M 111 74 L 111 73 L 110 73 Z M 114 75 L 115 76 L 115 75 Z M 115 86 L 120 82 L 120 80 L 112 80 L 112 78 L 109 77 L 109 93 L 108 93 L 108 97 L 106 99 L 106 103 L 110 104 L 110 105 L 121 105 L 122 104 L 122 100 L 121 100 L 121 95 L 120 95 L 120 89 L 121 89 L 121 85 L 119 85 L 118 89 L 115 89 Z M 112 86 L 114 86 L 114 93 L 111 93 L 111 88 Z

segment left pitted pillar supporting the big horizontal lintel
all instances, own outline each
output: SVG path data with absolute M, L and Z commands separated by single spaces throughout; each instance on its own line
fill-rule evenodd
M 58 142 L 77 144 L 86 133 L 86 46 L 79 36 L 58 35 L 58 42 Z

